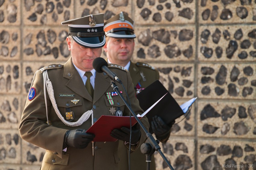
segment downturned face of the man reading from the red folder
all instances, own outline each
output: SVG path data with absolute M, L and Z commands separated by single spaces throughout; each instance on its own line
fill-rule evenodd
M 67 37 L 68 49 L 71 51 L 72 62 L 83 71 L 93 69 L 93 60 L 100 57 L 102 48 L 86 48 Z

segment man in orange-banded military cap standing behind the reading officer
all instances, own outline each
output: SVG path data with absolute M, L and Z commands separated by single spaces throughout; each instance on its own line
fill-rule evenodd
M 159 79 L 159 72 L 147 63 L 131 62 L 135 45 L 134 38 L 136 38 L 133 25 L 134 21 L 123 12 L 108 19 L 104 23 L 106 44 L 103 48 L 108 63 L 119 64 L 129 70 L 134 90 L 136 94 L 138 94 L 151 83 Z M 158 116 L 155 116 L 151 122 L 154 134 L 157 139 L 163 143 L 166 143 L 168 140 L 173 124 L 174 122 L 166 125 Z M 119 169 L 125 170 L 128 167 L 127 151 L 123 146 L 119 146 L 118 151 L 120 157 L 124 157 L 124 159 L 120 159 Z M 142 154 L 140 150 L 135 151 L 130 157 L 132 170 L 147 169 L 147 163 L 145 162 L 146 156 Z M 154 155 L 152 155 L 151 158 L 150 169 L 155 169 Z

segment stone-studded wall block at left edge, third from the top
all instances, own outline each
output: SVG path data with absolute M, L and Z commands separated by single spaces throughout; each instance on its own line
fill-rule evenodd
M 19 94 L 21 91 L 21 64 L 0 63 L 0 94 Z

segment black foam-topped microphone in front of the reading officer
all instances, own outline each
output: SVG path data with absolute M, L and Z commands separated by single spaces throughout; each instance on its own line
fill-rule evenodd
M 98 72 L 102 73 L 105 72 L 112 80 L 117 81 L 118 83 L 122 84 L 122 81 L 117 77 L 117 75 L 109 70 L 108 63 L 105 59 L 101 57 L 97 57 L 93 60 L 93 68 Z

